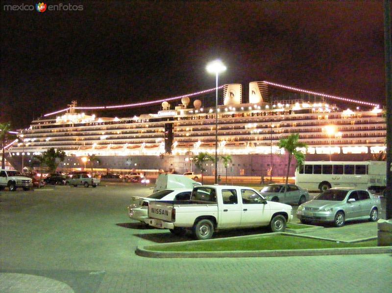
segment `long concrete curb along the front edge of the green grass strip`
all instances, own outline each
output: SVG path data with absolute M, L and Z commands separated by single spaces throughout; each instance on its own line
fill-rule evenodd
M 392 246 L 365 248 L 323 248 L 293 250 L 259 250 L 259 251 L 205 251 L 205 252 L 166 252 L 152 251 L 138 247 L 135 253 L 139 256 L 153 258 L 208 258 L 208 257 L 275 257 L 275 256 L 316 256 L 392 253 Z

